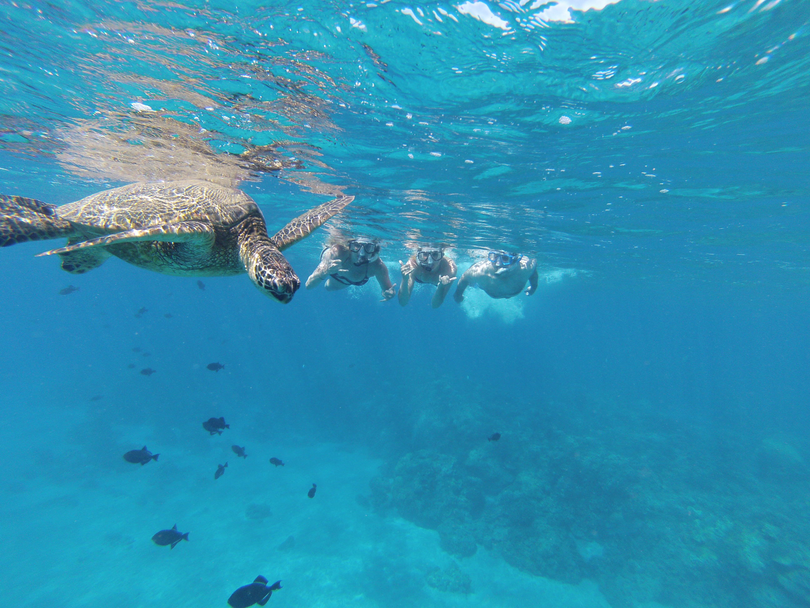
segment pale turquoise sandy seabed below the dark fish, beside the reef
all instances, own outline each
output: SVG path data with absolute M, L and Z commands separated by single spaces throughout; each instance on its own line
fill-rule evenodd
M 117 428 L 109 449 L 90 449 L 70 444 L 69 425 L 48 411 L 46 422 L 30 418 L 47 428 L 26 423 L 6 447 L 21 460 L 3 476 L 2 606 L 227 606 L 259 574 L 282 580 L 277 608 L 608 606 L 588 581 L 531 576 L 483 548 L 456 559 L 435 531 L 361 506 L 380 462 L 360 452 L 305 437 L 242 441 L 238 430 L 209 438 L 202 428 L 178 447 L 135 427 Z M 122 460 L 143 443 L 157 462 Z M 245 460 L 232 443 L 245 445 Z M 174 524 L 189 542 L 151 542 Z

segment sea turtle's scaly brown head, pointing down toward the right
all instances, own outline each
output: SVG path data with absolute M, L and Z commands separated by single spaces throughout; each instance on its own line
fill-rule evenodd
M 242 239 L 240 245 L 245 270 L 258 289 L 282 304 L 292 300 L 301 287 L 301 279 L 270 239 L 247 237 Z

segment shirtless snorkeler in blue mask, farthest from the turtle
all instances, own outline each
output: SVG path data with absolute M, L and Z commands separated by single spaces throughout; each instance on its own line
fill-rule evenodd
M 537 260 L 517 253 L 490 251 L 487 259 L 475 262 L 458 280 L 453 294 L 456 302 L 464 299 L 464 289 L 478 285 L 490 298 L 513 298 L 529 281 L 526 295 L 537 290 Z

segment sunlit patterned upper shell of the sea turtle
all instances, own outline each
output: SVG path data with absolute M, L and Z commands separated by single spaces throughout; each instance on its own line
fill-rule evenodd
M 199 180 L 138 182 L 62 205 L 58 216 L 92 231 L 117 233 L 177 221 L 204 221 L 229 228 L 261 216 L 241 190 Z

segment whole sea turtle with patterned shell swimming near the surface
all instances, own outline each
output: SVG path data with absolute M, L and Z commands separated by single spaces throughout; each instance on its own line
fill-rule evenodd
M 264 216 L 236 188 L 199 180 L 134 183 L 54 207 L 0 195 L 0 246 L 66 237 L 62 268 L 81 274 L 110 255 L 176 276 L 247 272 L 264 293 L 286 304 L 301 280 L 281 252 L 346 207 L 341 196 L 296 217 L 272 237 Z

